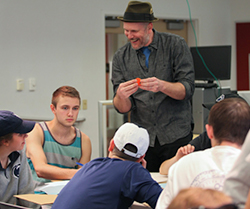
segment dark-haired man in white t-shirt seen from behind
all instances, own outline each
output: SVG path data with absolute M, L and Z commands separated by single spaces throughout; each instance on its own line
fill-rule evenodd
M 242 99 L 229 98 L 210 110 L 206 130 L 212 148 L 193 152 L 172 165 L 157 209 L 165 209 L 181 189 L 202 187 L 222 190 L 225 176 L 241 152 L 250 128 L 250 107 Z

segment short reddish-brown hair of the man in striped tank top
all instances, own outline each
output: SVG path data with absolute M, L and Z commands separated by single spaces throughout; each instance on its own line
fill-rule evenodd
M 59 96 L 78 98 L 81 103 L 79 92 L 72 86 L 62 86 L 54 91 L 51 103 L 56 107 Z

